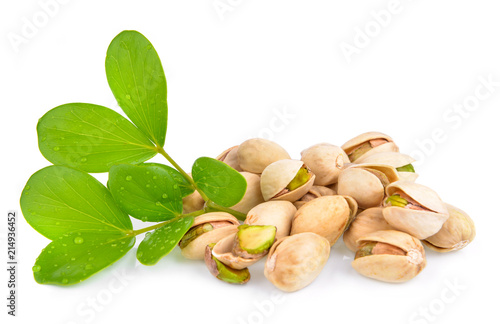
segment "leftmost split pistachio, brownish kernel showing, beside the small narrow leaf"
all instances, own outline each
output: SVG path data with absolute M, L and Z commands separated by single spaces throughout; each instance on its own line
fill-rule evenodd
M 236 233 L 239 224 L 236 217 L 224 212 L 196 217 L 191 229 L 179 241 L 182 255 L 187 259 L 203 260 L 205 246 Z

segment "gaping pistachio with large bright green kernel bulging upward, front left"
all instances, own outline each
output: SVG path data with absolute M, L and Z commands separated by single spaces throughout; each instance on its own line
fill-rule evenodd
M 275 241 L 276 227 L 240 225 L 237 233 L 215 244 L 212 254 L 230 268 L 241 270 L 262 259 Z

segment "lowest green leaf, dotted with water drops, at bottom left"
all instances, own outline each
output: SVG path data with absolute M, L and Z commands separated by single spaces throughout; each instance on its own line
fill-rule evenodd
M 62 286 L 79 283 L 123 257 L 134 243 L 134 236 L 119 233 L 63 234 L 38 256 L 35 280 Z

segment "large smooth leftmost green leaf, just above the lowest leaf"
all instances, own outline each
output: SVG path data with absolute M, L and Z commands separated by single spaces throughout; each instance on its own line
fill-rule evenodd
M 104 185 L 65 166 L 34 173 L 21 194 L 21 209 L 26 221 L 49 239 L 76 231 L 110 235 L 132 231 L 130 218 Z

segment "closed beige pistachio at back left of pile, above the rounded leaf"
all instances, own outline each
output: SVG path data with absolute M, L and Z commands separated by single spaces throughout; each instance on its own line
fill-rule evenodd
M 290 159 L 284 148 L 263 138 L 252 138 L 241 143 L 237 155 L 241 169 L 253 173 L 262 173 L 273 162 Z

